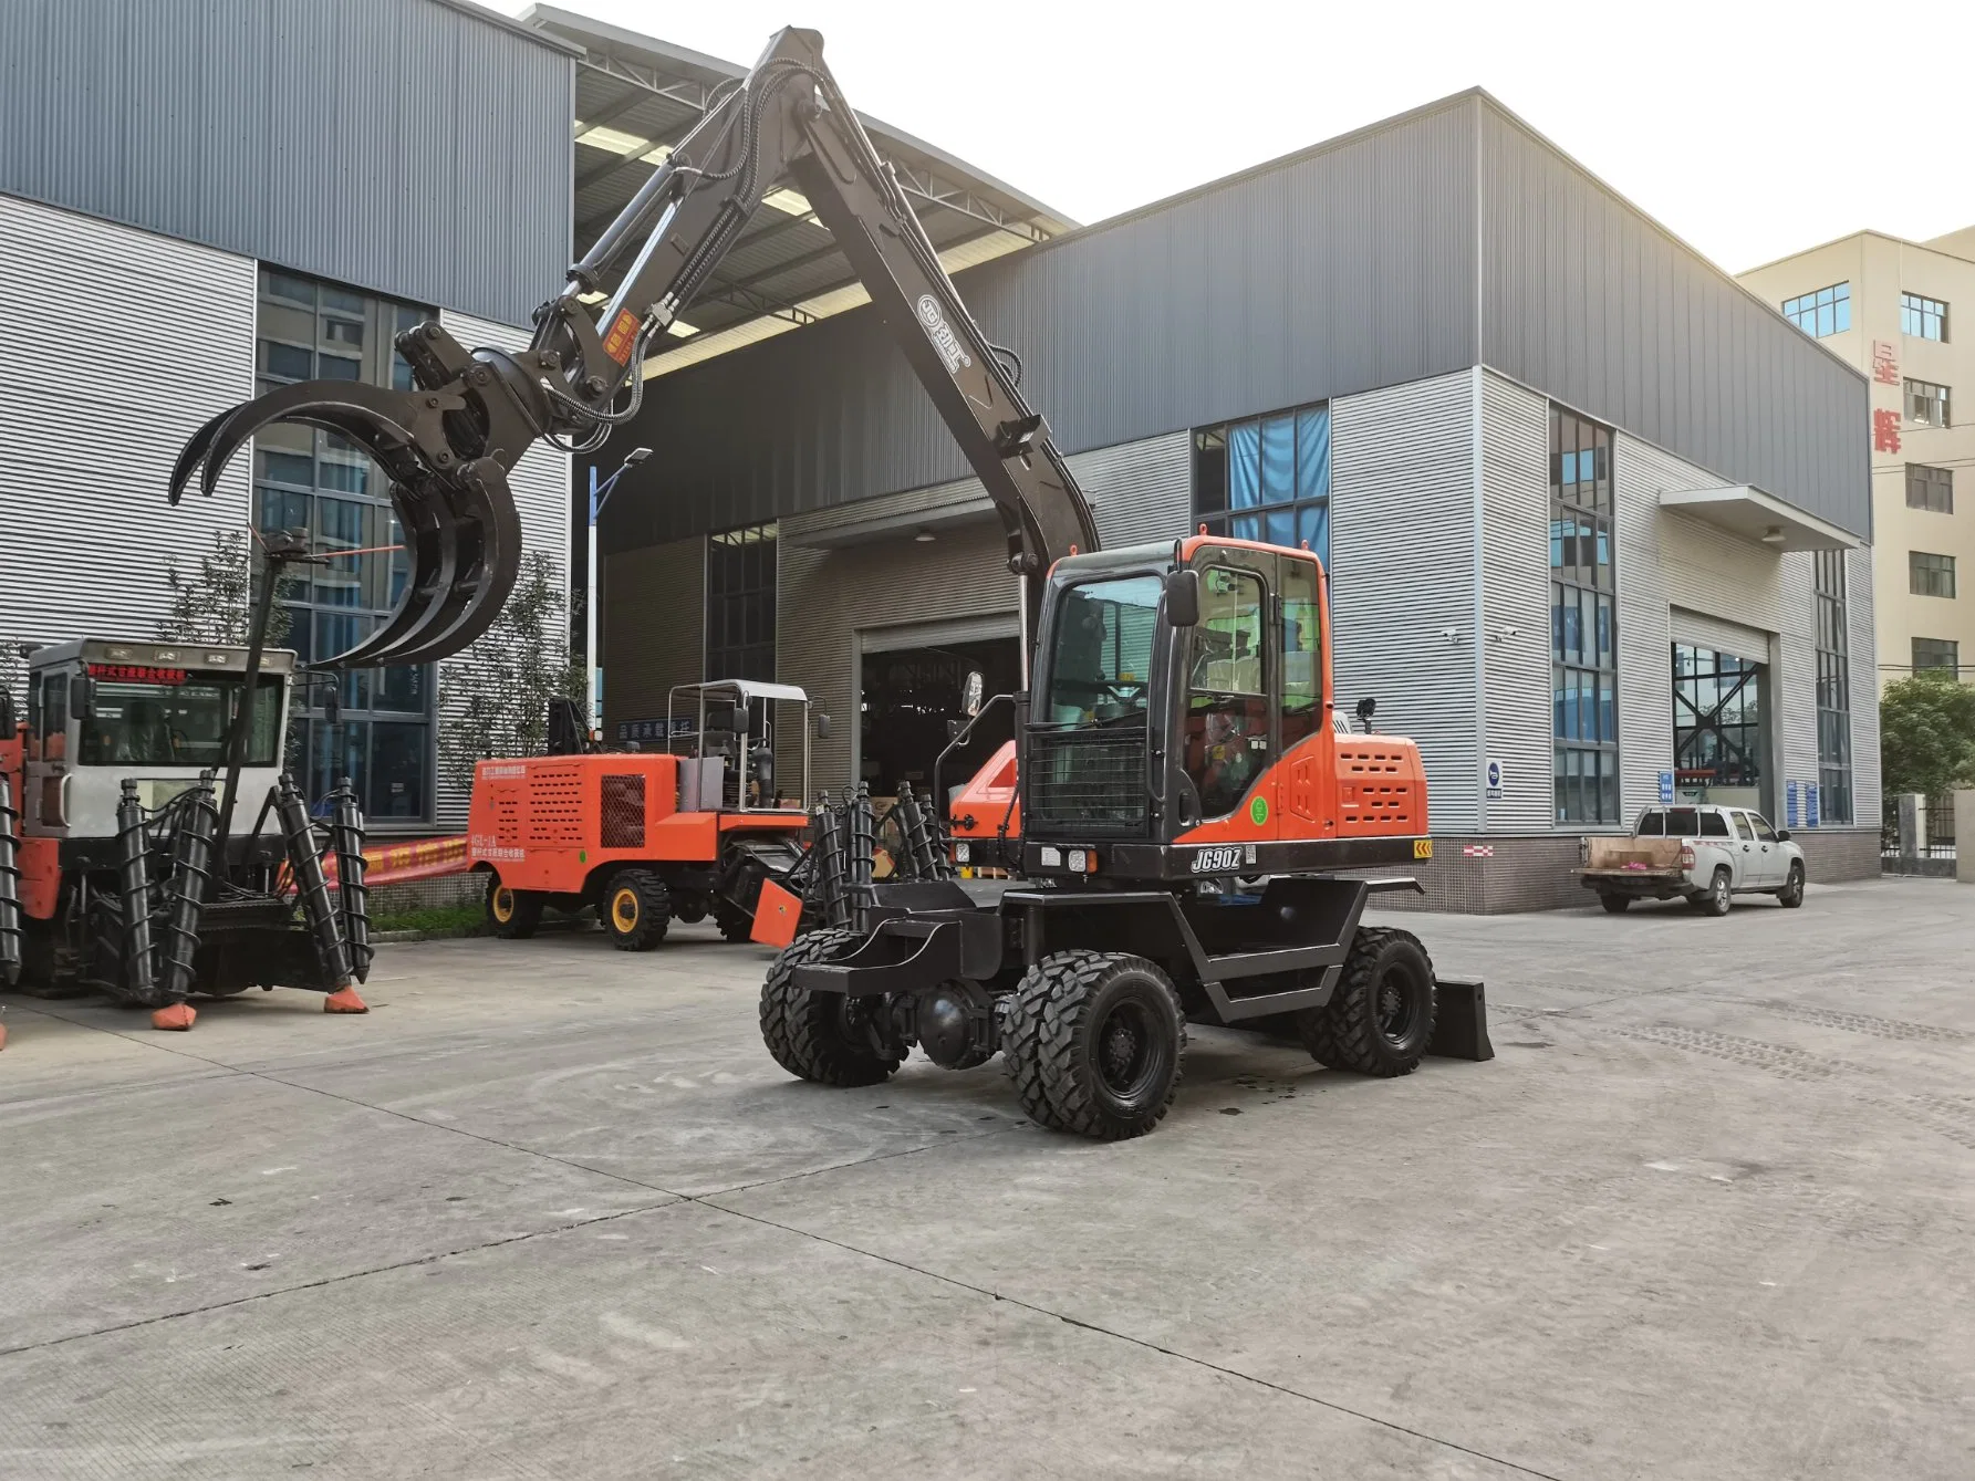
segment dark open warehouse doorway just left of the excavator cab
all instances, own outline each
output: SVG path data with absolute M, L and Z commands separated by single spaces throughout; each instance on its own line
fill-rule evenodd
M 968 719 L 968 675 L 982 675 L 982 695 L 1021 687 L 1021 636 L 1015 614 L 865 628 L 859 634 L 857 776 L 873 798 L 899 796 L 899 782 L 932 792 L 932 766 Z M 966 754 L 956 752 L 940 784 L 966 782 L 1013 739 L 1007 705 L 986 715 Z

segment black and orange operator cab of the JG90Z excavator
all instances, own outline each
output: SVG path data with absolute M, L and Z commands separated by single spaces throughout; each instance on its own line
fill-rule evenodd
M 1282 863 L 1280 845 L 1337 837 L 1325 620 L 1304 549 L 1203 533 L 1059 561 L 1021 764 L 1027 867 L 1110 857 L 1167 879 L 1199 843 L 1260 871 L 1258 849 Z

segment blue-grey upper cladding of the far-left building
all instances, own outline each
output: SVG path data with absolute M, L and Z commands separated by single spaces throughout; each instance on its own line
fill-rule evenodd
M 0 192 L 504 324 L 563 280 L 575 61 L 496 18 L 8 0 L 0 57 Z

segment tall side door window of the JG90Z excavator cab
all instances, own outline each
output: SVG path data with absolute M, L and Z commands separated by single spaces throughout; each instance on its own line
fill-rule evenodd
M 1226 818 L 1268 768 L 1268 592 L 1252 571 L 1201 573 L 1187 683 L 1187 776 L 1201 818 Z

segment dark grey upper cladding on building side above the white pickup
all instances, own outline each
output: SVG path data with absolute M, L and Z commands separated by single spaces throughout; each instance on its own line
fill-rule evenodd
M 1864 377 L 1479 107 L 1483 363 L 1870 537 Z

